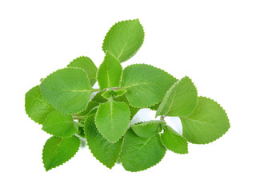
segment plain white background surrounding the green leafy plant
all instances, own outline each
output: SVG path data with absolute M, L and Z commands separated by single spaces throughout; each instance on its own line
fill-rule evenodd
M 255 191 L 256 4 L 247 0 L 0 2 L 1 191 Z M 138 173 L 102 166 L 88 148 L 46 173 L 49 134 L 27 117 L 24 95 L 81 55 L 97 66 L 114 22 L 139 18 L 142 48 L 123 66 L 147 63 L 192 78 L 218 101 L 230 130 L 189 154 L 167 151 Z

